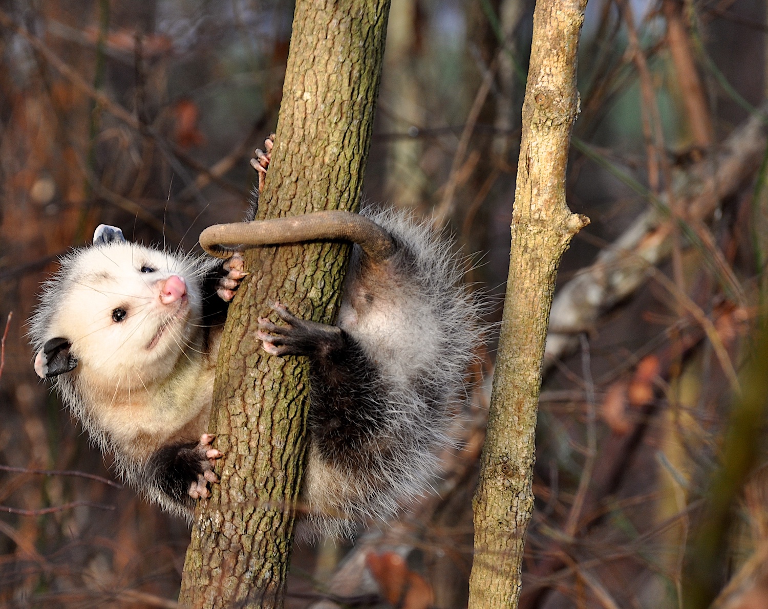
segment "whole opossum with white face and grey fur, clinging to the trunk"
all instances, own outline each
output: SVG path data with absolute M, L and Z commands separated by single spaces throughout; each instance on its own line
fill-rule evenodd
M 481 341 L 478 301 L 461 284 L 449 241 L 394 210 L 323 217 L 291 218 L 294 233 L 280 225 L 277 238 L 270 223 L 289 219 L 244 223 L 268 236 L 217 233 L 207 243 L 214 253 L 213 243 L 233 238 L 362 243 L 335 326 L 297 319 L 280 303 L 271 308 L 281 323 L 259 319 L 266 352 L 310 359 L 305 537 L 386 520 L 429 489 Z M 114 452 L 122 478 L 190 518 L 194 499 L 217 482 L 221 453 L 206 432 L 220 323 L 247 274 L 242 257 L 222 264 L 169 253 L 101 225 L 91 246 L 60 263 L 30 321 L 36 372 L 54 379 L 91 437 Z

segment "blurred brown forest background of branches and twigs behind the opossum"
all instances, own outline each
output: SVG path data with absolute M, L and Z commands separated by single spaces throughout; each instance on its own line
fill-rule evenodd
M 292 12 L 0 0 L 0 604 L 176 606 L 187 524 L 115 484 L 35 376 L 25 320 L 56 258 L 98 223 L 194 250 L 204 227 L 242 217 Z M 474 254 L 490 323 L 532 13 L 533 0 L 392 0 L 366 174 L 366 199 Z M 738 398 L 768 260 L 766 24 L 763 0 L 589 2 L 568 204 L 591 225 L 555 295 L 521 607 L 678 607 L 700 548 L 716 560 L 692 585 L 727 586 L 720 607 L 768 607 L 765 395 Z M 296 548 L 290 607 L 466 605 L 493 359 L 492 336 L 438 492 L 355 544 Z M 723 446 L 743 453 L 727 470 Z M 721 526 L 707 538 L 712 480 Z

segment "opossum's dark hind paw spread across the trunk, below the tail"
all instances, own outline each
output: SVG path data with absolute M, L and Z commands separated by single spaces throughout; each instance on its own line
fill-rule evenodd
M 341 338 L 341 330 L 336 326 L 299 319 L 283 304 L 275 303 L 272 310 L 285 325 L 278 326 L 266 317 L 260 317 L 256 335 L 262 341 L 262 349 L 270 355 L 311 356 Z

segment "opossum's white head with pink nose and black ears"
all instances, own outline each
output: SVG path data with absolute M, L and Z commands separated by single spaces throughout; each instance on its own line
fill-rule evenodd
M 44 286 L 30 324 L 35 372 L 76 375 L 97 390 L 128 376 L 162 381 L 200 349 L 199 275 L 194 257 L 129 243 L 102 224 L 93 246 L 63 258 Z

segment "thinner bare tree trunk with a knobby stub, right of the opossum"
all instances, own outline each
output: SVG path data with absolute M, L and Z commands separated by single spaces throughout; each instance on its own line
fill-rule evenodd
M 541 362 L 558 264 L 588 219 L 565 203 L 578 114 L 576 51 L 585 0 L 538 0 L 522 111 L 512 244 L 488 435 L 475 494 L 469 607 L 516 607 L 531 490 Z

